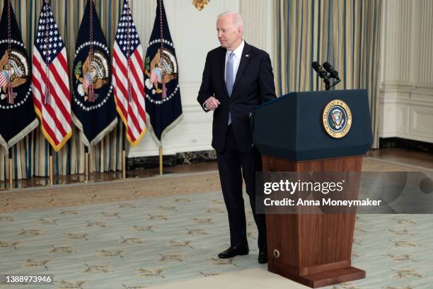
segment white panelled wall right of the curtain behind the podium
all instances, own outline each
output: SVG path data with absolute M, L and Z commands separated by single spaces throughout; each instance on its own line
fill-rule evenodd
M 433 1 L 383 1 L 379 137 L 433 142 Z

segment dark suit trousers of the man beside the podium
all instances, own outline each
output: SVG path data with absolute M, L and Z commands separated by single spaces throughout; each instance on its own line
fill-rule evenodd
M 245 207 L 242 196 L 242 176 L 250 199 L 255 224 L 258 227 L 258 247 L 267 249 L 265 215 L 255 213 L 255 172 L 262 171 L 262 161 L 257 149 L 239 152 L 231 125 L 227 127 L 224 151 L 217 152 L 219 179 L 229 215 L 230 244 L 248 244 L 246 236 Z

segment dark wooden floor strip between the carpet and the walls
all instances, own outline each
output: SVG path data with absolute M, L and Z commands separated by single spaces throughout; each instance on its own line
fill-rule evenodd
M 428 169 L 433 169 L 433 154 L 425 152 L 415 152 L 408 149 L 374 149 L 367 152 L 366 157 L 375 157 L 378 159 L 385 159 L 391 162 L 398 162 L 401 164 L 410 164 L 412 166 L 422 166 Z M 172 166 L 164 168 L 164 174 L 183 174 L 193 173 L 199 171 L 215 171 L 218 169 L 217 162 L 203 162 L 199 164 L 183 164 L 179 166 Z M 156 176 L 158 169 L 143 169 L 127 171 L 127 178 L 146 178 L 149 176 Z M 122 172 L 108 172 L 108 173 L 93 173 L 89 177 L 89 181 L 111 181 L 121 179 Z M 85 181 L 83 174 L 57 176 L 54 178 L 54 184 L 77 183 Z M 49 185 L 49 179 L 43 177 L 34 177 L 32 179 L 24 179 L 13 181 L 13 188 L 30 188 L 37 186 Z M 0 190 L 9 189 L 8 181 L 0 182 Z

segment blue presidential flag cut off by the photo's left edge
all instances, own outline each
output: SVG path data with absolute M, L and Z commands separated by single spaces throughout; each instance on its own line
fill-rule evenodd
M 11 1 L 0 20 L 0 145 L 8 148 L 37 127 L 30 86 L 31 66 Z

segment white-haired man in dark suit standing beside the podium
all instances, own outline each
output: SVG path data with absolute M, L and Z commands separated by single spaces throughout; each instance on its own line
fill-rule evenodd
M 274 74 L 267 52 L 242 39 L 243 20 L 236 12 L 217 20 L 221 47 L 206 57 L 197 101 L 214 111 L 212 147 L 217 150 L 219 179 L 229 215 L 230 247 L 221 259 L 248 254 L 242 176 L 258 227 L 259 263 L 267 262 L 265 215 L 255 213 L 255 172 L 261 171 L 260 154 L 253 147 L 248 114 L 255 106 L 275 98 Z

